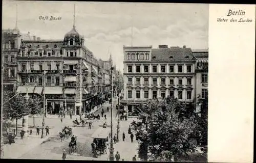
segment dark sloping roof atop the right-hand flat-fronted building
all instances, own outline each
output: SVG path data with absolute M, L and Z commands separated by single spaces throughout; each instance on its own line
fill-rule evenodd
M 152 59 L 154 60 L 191 60 L 193 59 L 190 48 L 153 48 Z

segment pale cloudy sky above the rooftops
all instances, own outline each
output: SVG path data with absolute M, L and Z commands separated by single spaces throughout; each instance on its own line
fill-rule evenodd
M 96 59 L 108 60 L 123 72 L 123 45 L 208 48 L 208 4 L 3 1 L 3 29 L 41 39 L 62 40 L 74 22 Z M 39 20 L 39 16 L 61 17 Z

